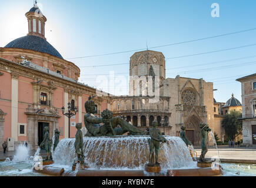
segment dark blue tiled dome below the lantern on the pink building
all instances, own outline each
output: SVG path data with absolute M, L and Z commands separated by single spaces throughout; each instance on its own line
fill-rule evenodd
M 23 36 L 8 43 L 4 48 L 31 49 L 32 51 L 48 53 L 63 59 L 61 54 L 49 42 L 39 36 Z

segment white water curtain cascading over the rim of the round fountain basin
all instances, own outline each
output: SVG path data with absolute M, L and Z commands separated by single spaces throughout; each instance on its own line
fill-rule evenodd
M 84 155 L 90 169 L 144 169 L 149 157 L 149 136 L 84 137 Z M 165 136 L 159 163 L 162 169 L 195 167 L 180 137 Z M 75 139 L 62 139 L 52 157 L 55 164 L 71 166 L 77 156 Z

